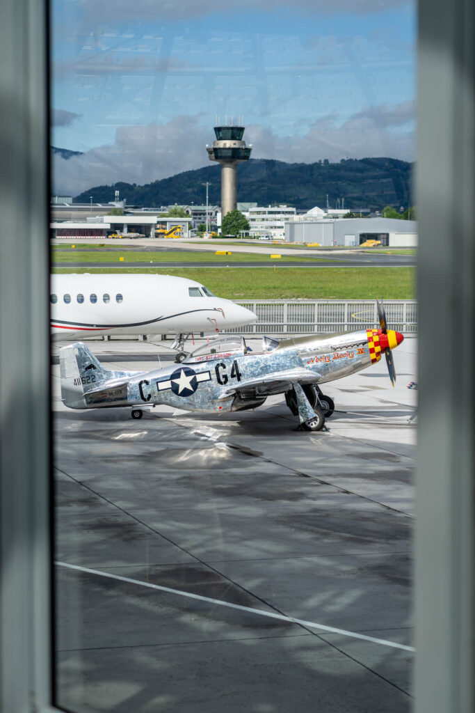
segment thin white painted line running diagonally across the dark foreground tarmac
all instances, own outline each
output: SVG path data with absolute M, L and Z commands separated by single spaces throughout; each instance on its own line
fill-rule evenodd
M 66 567 L 70 570 L 78 570 L 79 572 L 87 572 L 91 575 L 98 575 L 98 577 L 107 577 L 109 579 L 115 579 L 119 582 L 127 582 L 128 584 L 136 584 L 140 587 L 147 587 L 149 589 L 155 589 L 160 592 L 168 592 L 169 594 L 176 594 L 179 597 L 188 597 L 189 599 L 198 599 L 201 602 L 209 602 L 209 604 L 217 604 L 221 607 L 229 607 L 230 609 L 239 609 L 241 612 L 248 612 L 249 614 L 259 614 L 261 617 L 269 617 L 270 619 L 278 619 L 282 622 L 287 622 L 288 624 L 300 624 L 312 629 L 320 629 L 321 631 L 328 632 L 330 634 L 341 634 L 343 636 L 350 636 L 353 639 L 361 639 L 362 641 L 370 641 L 372 644 L 380 644 L 382 646 L 389 646 L 393 649 L 401 649 L 402 651 L 415 651 L 412 646 L 404 646 L 404 644 L 397 644 L 394 641 L 386 641 L 385 639 L 376 639 L 372 636 L 365 636 L 365 634 L 357 634 L 353 631 L 346 631 L 345 629 L 335 629 L 332 626 L 325 626 L 323 624 L 315 624 L 315 622 L 308 622 L 305 619 L 296 619 L 295 617 L 286 617 L 283 614 L 277 614 L 275 612 L 266 612 L 262 609 L 254 609 L 254 607 L 244 607 L 241 604 L 231 604 L 231 602 L 223 602 L 220 599 L 212 599 L 211 597 L 202 597 L 199 594 L 192 594 L 191 592 L 182 592 L 179 589 L 170 589 L 169 587 L 162 587 L 162 585 L 152 584 L 150 582 L 142 582 L 141 580 L 132 580 L 128 577 L 121 577 L 120 575 L 113 575 L 109 572 L 102 572 L 101 570 L 91 570 L 88 567 L 80 567 L 79 565 L 70 565 L 67 562 L 55 562 L 58 567 Z

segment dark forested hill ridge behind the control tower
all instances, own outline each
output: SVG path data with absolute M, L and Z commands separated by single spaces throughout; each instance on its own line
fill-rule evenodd
M 328 201 L 336 206 L 337 198 L 345 199 L 345 208 L 370 207 L 378 210 L 392 205 L 399 210 L 412 205 L 412 163 L 395 158 L 348 159 L 340 163 L 284 163 L 268 159 L 251 159 L 238 166 L 238 200 L 258 205 L 286 203 L 296 208 Z M 219 165 L 209 165 L 178 173 L 171 178 L 146 185 L 115 183 L 88 188 L 76 196 L 78 202 L 114 200 L 114 191 L 128 205 L 160 207 L 162 205 L 203 205 L 204 181 L 209 181 L 209 203 L 219 205 L 221 193 Z

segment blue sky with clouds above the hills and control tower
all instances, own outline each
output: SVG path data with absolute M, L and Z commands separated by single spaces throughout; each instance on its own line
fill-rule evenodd
M 51 0 L 53 192 L 252 158 L 414 160 L 415 0 Z

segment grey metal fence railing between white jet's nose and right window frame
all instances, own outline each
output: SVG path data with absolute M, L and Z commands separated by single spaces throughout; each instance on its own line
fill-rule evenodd
M 252 299 L 237 301 L 257 314 L 256 324 L 241 327 L 242 334 L 318 334 L 370 329 L 379 323 L 375 299 Z M 387 324 L 397 332 L 417 332 L 415 299 L 385 300 Z M 229 330 L 236 331 L 236 330 Z

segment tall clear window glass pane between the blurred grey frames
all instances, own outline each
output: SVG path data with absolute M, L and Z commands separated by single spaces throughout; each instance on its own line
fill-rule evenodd
M 417 233 L 411 3 L 53 0 L 53 262 L 102 270 L 51 287 L 88 303 L 52 367 L 63 709 L 409 709 L 407 652 L 344 632 L 411 637 L 417 349 L 392 389 L 363 345 L 379 289 L 414 329 L 414 256 L 360 249 Z

